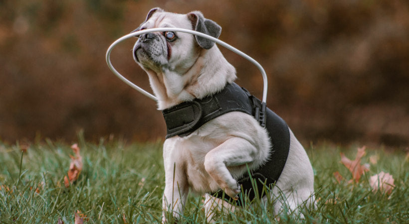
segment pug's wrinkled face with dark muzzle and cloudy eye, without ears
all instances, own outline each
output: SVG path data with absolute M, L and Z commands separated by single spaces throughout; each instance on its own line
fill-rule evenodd
M 154 12 L 140 30 L 160 27 L 192 29 L 186 14 Z M 133 49 L 135 61 L 145 69 L 183 74 L 196 61 L 199 46 L 193 35 L 183 32 L 154 32 L 140 35 Z

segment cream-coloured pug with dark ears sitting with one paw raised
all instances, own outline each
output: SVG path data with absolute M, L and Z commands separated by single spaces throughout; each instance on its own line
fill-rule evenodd
M 192 29 L 216 38 L 221 32 L 219 25 L 199 11 L 176 14 L 160 8 L 151 9 L 137 30 L 157 27 Z M 234 67 L 214 42 L 184 32 L 142 34 L 134 45 L 133 54 L 149 76 L 159 110 L 212 96 L 236 79 Z M 269 194 L 276 197 L 276 213 L 283 206 L 296 211 L 303 203 L 307 206 L 314 203 L 311 163 L 291 130 L 287 132 L 287 160 L 284 160 L 285 166 Z M 247 167 L 256 170 L 263 166 L 274 152 L 272 147 L 266 128 L 254 116 L 239 111 L 217 116 L 187 134 L 169 136 L 163 147 L 163 222 L 167 211 L 177 219 L 183 214 L 189 190 L 206 193 L 205 211 L 207 220 L 211 221 L 213 210 L 224 201 L 209 193 L 221 189 L 225 195 L 237 200 L 240 193 L 237 181 L 248 173 Z M 280 194 L 283 197 L 278 198 Z

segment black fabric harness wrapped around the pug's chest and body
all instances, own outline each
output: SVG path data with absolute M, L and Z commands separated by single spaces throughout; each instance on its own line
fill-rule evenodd
M 242 192 L 251 201 L 256 195 L 262 197 L 264 184 L 267 187 L 275 184 L 287 160 L 290 133 L 287 124 L 281 117 L 235 83 L 227 84 L 222 91 L 212 96 L 181 103 L 163 110 L 162 113 L 167 128 L 166 138 L 170 138 L 176 135 L 187 136 L 207 121 L 234 111 L 250 114 L 259 121 L 261 126 L 265 126 L 272 145 L 267 162 L 256 170 L 250 170 L 250 173 L 246 173 L 237 181 L 242 187 Z M 258 181 L 252 183 L 250 175 L 252 179 Z M 257 193 L 255 193 L 253 186 L 257 188 Z M 221 190 L 213 195 L 225 200 L 230 199 Z M 242 194 L 239 195 L 239 197 L 241 196 Z M 243 200 L 237 201 L 238 205 L 242 205 L 242 203 Z

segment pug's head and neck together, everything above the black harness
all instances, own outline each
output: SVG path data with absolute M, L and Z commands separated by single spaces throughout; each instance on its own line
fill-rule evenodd
M 134 31 L 160 27 L 185 28 L 215 38 L 221 32 L 221 27 L 206 19 L 200 11 L 177 14 L 161 8 L 151 9 L 146 20 Z M 133 56 L 148 73 L 160 109 L 205 97 L 235 78 L 234 68 L 224 59 L 214 42 L 189 33 L 168 31 L 142 34 L 134 45 Z M 213 80 L 215 75 L 219 78 Z M 211 83 L 214 86 L 208 87 Z

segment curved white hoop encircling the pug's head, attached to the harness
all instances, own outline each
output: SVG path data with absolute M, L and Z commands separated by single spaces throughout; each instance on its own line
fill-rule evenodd
M 217 39 L 217 38 L 214 38 L 214 37 L 212 37 L 212 36 L 209 36 L 209 35 L 207 35 L 207 34 L 204 34 L 204 33 L 198 32 L 198 31 L 194 31 L 194 30 L 183 29 L 183 28 L 166 27 L 166 28 L 144 29 L 144 30 L 140 30 L 140 31 L 136 31 L 136 32 L 132 32 L 132 33 L 130 33 L 130 34 L 127 34 L 127 35 L 125 35 L 125 36 L 123 36 L 123 37 L 117 39 L 115 42 L 113 42 L 113 43 L 111 44 L 111 46 L 109 46 L 109 48 L 108 48 L 108 50 L 107 50 L 107 53 L 106 53 L 106 61 L 107 61 L 107 64 L 108 64 L 109 69 L 111 69 L 111 71 L 112 71 L 119 79 L 121 79 L 122 81 L 124 81 L 126 84 L 128 84 L 128 85 L 131 86 L 132 88 L 134 88 L 135 90 L 139 91 L 139 92 L 142 93 L 143 95 L 145 95 L 145 96 L 151 98 L 152 100 L 157 101 L 157 98 L 156 98 L 154 95 L 150 94 L 149 92 L 145 91 L 144 89 L 140 88 L 139 86 L 135 85 L 134 83 L 132 83 L 131 81 L 129 81 L 128 79 L 126 79 L 125 77 L 123 77 L 123 76 L 114 68 L 114 66 L 112 65 L 111 59 L 110 59 L 110 55 L 111 55 L 112 49 L 113 49 L 118 43 L 122 42 L 123 40 L 126 40 L 126 39 L 131 38 L 131 37 L 137 37 L 137 36 L 139 36 L 139 35 L 141 35 L 141 34 L 144 34 L 144 33 L 165 32 L 165 31 L 191 33 L 191 34 L 193 34 L 193 35 L 196 35 L 196 36 L 200 36 L 200 37 L 209 39 L 209 40 L 214 41 L 214 42 L 216 42 L 217 44 L 219 44 L 219 45 L 221 45 L 221 46 L 223 46 L 223 47 L 225 47 L 225 48 L 227 48 L 227 49 L 233 51 L 234 53 L 240 55 L 241 57 L 243 57 L 243 58 L 247 59 L 248 61 L 250 61 L 251 63 L 253 63 L 253 64 L 260 70 L 261 75 L 263 76 L 263 97 L 262 97 L 262 102 L 263 102 L 263 103 L 266 103 L 266 100 L 267 100 L 267 75 L 265 74 L 265 71 L 264 71 L 263 67 L 261 67 L 261 65 L 260 65 L 256 60 L 254 60 L 254 59 L 251 58 L 250 56 L 244 54 L 243 52 L 237 50 L 236 48 L 232 47 L 231 45 L 229 45 L 229 44 L 227 44 L 227 43 L 225 43 L 225 42 L 223 42 L 223 41 L 221 41 L 221 40 L 219 40 L 219 39 Z

